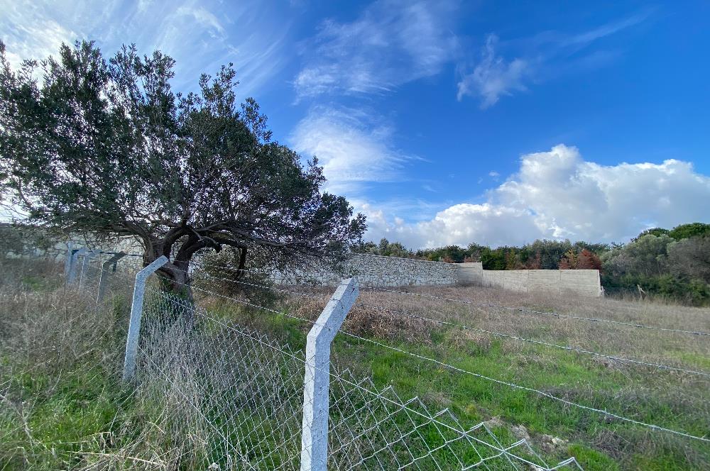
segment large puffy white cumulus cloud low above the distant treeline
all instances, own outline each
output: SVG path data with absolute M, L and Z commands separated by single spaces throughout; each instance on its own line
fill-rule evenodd
M 483 204 L 455 204 L 428 221 L 404 223 L 376 214 L 368 238 L 410 247 L 528 243 L 536 238 L 611 242 L 644 228 L 709 221 L 710 177 L 680 160 L 599 165 L 564 144 L 520 158 L 520 169 Z M 366 214 L 376 206 L 362 206 Z

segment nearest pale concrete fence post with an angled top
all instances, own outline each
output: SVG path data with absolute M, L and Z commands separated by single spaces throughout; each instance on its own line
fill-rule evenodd
M 357 279 L 344 279 L 307 336 L 301 471 L 327 471 L 330 344 L 358 294 Z

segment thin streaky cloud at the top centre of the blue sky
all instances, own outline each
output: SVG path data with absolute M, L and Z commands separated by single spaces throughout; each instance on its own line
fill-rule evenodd
M 304 45 L 297 96 L 381 93 L 437 74 L 456 46 L 447 1 L 376 1 L 351 23 L 325 21 Z

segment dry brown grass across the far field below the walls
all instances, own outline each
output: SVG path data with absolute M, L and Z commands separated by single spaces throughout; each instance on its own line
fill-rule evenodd
M 300 289 L 304 291 L 303 288 Z M 356 306 L 346 319 L 345 330 L 357 335 L 428 342 L 432 329 L 441 327 L 441 324 L 415 317 L 421 316 L 474 329 L 594 350 L 607 355 L 626 356 L 692 370 L 705 367 L 705 370 L 710 372 L 710 363 L 704 361 L 710 358 L 710 341 L 707 336 L 559 318 L 476 304 L 710 332 L 708 308 L 639 300 L 558 297 L 544 293 L 521 294 L 488 287 L 404 287 L 396 290 L 410 294 L 362 289 Z M 310 289 L 307 293 L 314 297 L 289 297 L 288 304 L 295 315 L 315 320 L 327 303 L 332 289 Z M 428 297 L 459 299 L 471 304 Z M 491 339 L 490 334 L 477 331 L 466 331 L 462 335 L 481 341 Z M 511 350 L 515 350 L 515 345 L 526 345 L 516 341 L 510 343 L 513 345 L 508 345 L 507 348 Z

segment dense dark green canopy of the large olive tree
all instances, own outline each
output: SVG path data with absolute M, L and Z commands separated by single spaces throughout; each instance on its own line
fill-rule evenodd
M 275 264 L 344 254 L 365 218 L 322 192 L 315 157 L 272 140 L 231 64 L 199 92 L 173 92 L 175 61 L 91 42 L 13 70 L 0 43 L 0 190 L 26 221 L 67 233 L 133 235 L 175 284 L 198 250 Z M 35 78 L 38 74 L 42 79 Z M 6 201 L 7 202 L 7 201 Z

